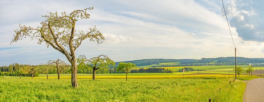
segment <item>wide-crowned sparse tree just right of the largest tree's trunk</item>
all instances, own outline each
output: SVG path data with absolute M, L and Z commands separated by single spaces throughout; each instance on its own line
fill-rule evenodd
M 90 59 L 86 59 L 84 55 L 80 55 L 77 59 L 79 66 L 86 66 L 93 69 L 93 80 L 95 80 L 95 71 L 99 68 L 115 67 L 115 62 L 106 55 L 100 55 Z

